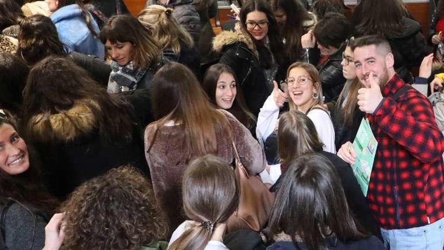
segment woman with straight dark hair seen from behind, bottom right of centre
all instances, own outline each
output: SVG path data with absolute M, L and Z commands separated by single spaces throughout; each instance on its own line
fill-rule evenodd
M 320 154 L 288 165 L 276 193 L 266 232 L 267 250 L 385 249 L 353 218 L 335 167 Z

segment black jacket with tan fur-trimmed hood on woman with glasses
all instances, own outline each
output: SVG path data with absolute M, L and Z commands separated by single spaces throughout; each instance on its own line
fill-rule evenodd
M 253 41 L 241 32 L 223 31 L 214 38 L 213 49 L 221 53 L 219 63 L 226 64 L 235 71 L 247 107 L 257 117 L 273 85 L 266 78 Z M 283 80 L 286 70 L 278 67 L 274 79 L 278 82 Z

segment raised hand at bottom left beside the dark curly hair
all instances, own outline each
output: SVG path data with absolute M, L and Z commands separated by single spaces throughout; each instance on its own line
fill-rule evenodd
M 45 227 L 45 246 L 42 250 L 58 250 L 65 238 L 64 222 L 65 213 L 54 214 Z

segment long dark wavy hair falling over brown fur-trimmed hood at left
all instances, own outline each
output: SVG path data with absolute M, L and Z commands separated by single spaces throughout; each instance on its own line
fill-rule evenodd
M 29 120 L 34 115 L 57 114 L 85 99 L 92 101 L 85 103 L 98 121 L 98 131 L 103 139 L 113 143 L 131 140 L 130 104 L 118 95 L 109 95 L 72 60 L 55 56 L 38 62 L 29 72 L 23 98 L 26 131 L 32 131 Z M 55 138 L 52 131 L 44 133 L 49 140 Z M 32 134 L 28 136 L 32 138 Z

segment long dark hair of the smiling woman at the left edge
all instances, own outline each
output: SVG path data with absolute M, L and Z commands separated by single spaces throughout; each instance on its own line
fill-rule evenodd
M 0 114 L 0 126 L 11 125 L 20 134 L 16 118 L 6 110 L 6 116 Z M 23 138 L 20 138 L 23 140 Z M 13 199 L 23 205 L 31 205 L 49 214 L 55 211 L 58 201 L 52 197 L 43 185 L 39 160 L 33 148 L 28 144 L 29 169 L 21 174 L 10 175 L 0 169 L 0 204 Z

